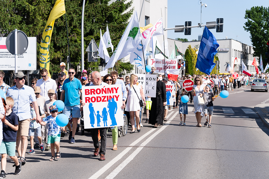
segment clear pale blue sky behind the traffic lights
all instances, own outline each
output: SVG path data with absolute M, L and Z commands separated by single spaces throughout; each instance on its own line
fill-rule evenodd
M 247 19 L 245 13 L 253 6 L 269 7 L 268 0 L 168 0 L 168 22 L 166 28 L 173 28 L 185 25 L 185 21 L 191 21 L 192 26 L 200 23 L 201 5 L 206 3 L 207 7 L 202 7 L 202 23 L 216 21 L 223 18 L 223 32 L 216 32 L 216 29 L 209 29 L 215 38 L 238 40 L 244 44 L 252 46 L 250 33 L 245 31 L 243 26 Z M 184 32 L 168 31 L 168 38 L 187 38 L 189 41 L 198 40 L 198 35 L 203 34 L 203 28 L 191 28 L 191 35 L 184 35 Z

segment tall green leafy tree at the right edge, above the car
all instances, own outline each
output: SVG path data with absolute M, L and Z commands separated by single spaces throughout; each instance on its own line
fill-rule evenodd
M 254 56 L 259 57 L 262 54 L 262 59 L 266 59 L 267 41 L 269 40 L 269 8 L 267 7 L 252 7 L 246 10 L 244 29 L 250 32 Z M 263 63 L 267 64 L 267 63 Z

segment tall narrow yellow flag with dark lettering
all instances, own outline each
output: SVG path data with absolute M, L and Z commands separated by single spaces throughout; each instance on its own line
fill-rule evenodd
M 40 68 L 46 68 L 48 70 L 48 76 L 50 76 L 50 40 L 53 31 L 54 21 L 60 16 L 65 14 L 65 1 L 57 0 L 53 9 L 50 11 L 50 16 L 48 18 L 47 24 L 43 31 L 40 48 L 39 48 L 39 62 Z

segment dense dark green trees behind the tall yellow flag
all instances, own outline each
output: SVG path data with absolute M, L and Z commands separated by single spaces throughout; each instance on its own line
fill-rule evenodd
M 84 10 L 84 65 L 89 71 L 99 70 L 98 62 L 87 62 L 85 49 L 91 39 L 100 41 L 100 29 L 102 34 L 108 24 L 112 44 L 117 47 L 128 20 L 132 16 L 133 8 L 128 10 L 132 1 L 110 0 L 86 0 Z M 41 37 L 55 0 L 2 0 L 0 5 L 0 34 L 7 35 L 15 28 L 22 30 L 28 37 L 37 37 L 37 49 L 39 49 Z M 81 14 L 82 1 L 65 1 L 65 10 L 68 26 L 68 38 L 70 45 L 70 60 L 73 67 L 80 65 L 81 61 Z M 128 10 L 128 11 L 127 11 Z M 39 50 L 37 51 L 39 53 Z M 108 52 L 112 55 L 111 48 Z M 37 53 L 37 54 L 38 54 Z M 60 62 L 66 62 L 68 56 L 67 34 L 65 15 L 55 20 L 50 42 L 50 73 L 57 73 Z M 37 55 L 38 59 L 39 55 Z M 39 59 L 37 60 L 39 64 Z M 38 66 L 39 68 L 39 66 Z M 123 67 L 122 67 L 123 68 Z

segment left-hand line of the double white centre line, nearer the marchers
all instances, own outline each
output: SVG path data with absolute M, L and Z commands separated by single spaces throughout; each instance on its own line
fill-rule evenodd
M 166 118 L 169 118 L 172 114 L 174 113 L 174 111 L 171 111 Z M 177 115 L 177 112 L 175 113 L 175 115 Z M 174 116 L 175 116 L 174 115 Z M 172 118 L 173 119 L 173 118 Z M 168 121 L 167 121 L 168 122 Z M 166 122 L 166 123 L 167 123 Z M 165 127 L 165 126 L 163 126 Z M 140 142 L 142 139 L 144 139 L 145 137 L 147 137 L 151 132 L 153 132 L 154 130 L 156 130 L 157 128 L 153 128 L 150 131 L 148 131 L 146 134 L 142 135 L 140 138 L 138 138 L 137 140 L 135 140 L 132 144 L 130 144 L 129 146 L 134 146 L 136 145 L 138 142 Z M 162 128 L 161 128 L 162 129 Z M 160 129 L 160 130 L 161 130 Z M 96 173 L 94 173 L 91 177 L 89 177 L 89 179 L 96 179 L 98 177 L 100 177 L 104 172 L 106 172 L 110 167 L 112 167 L 116 162 L 118 162 L 126 153 L 128 153 L 130 150 L 132 149 L 132 147 L 127 147 L 125 148 L 120 154 L 118 154 L 115 158 L 113 158 L 110 162 L 108 162 L 105 166 L 103 166 L 100 170 L 98 170 Z

